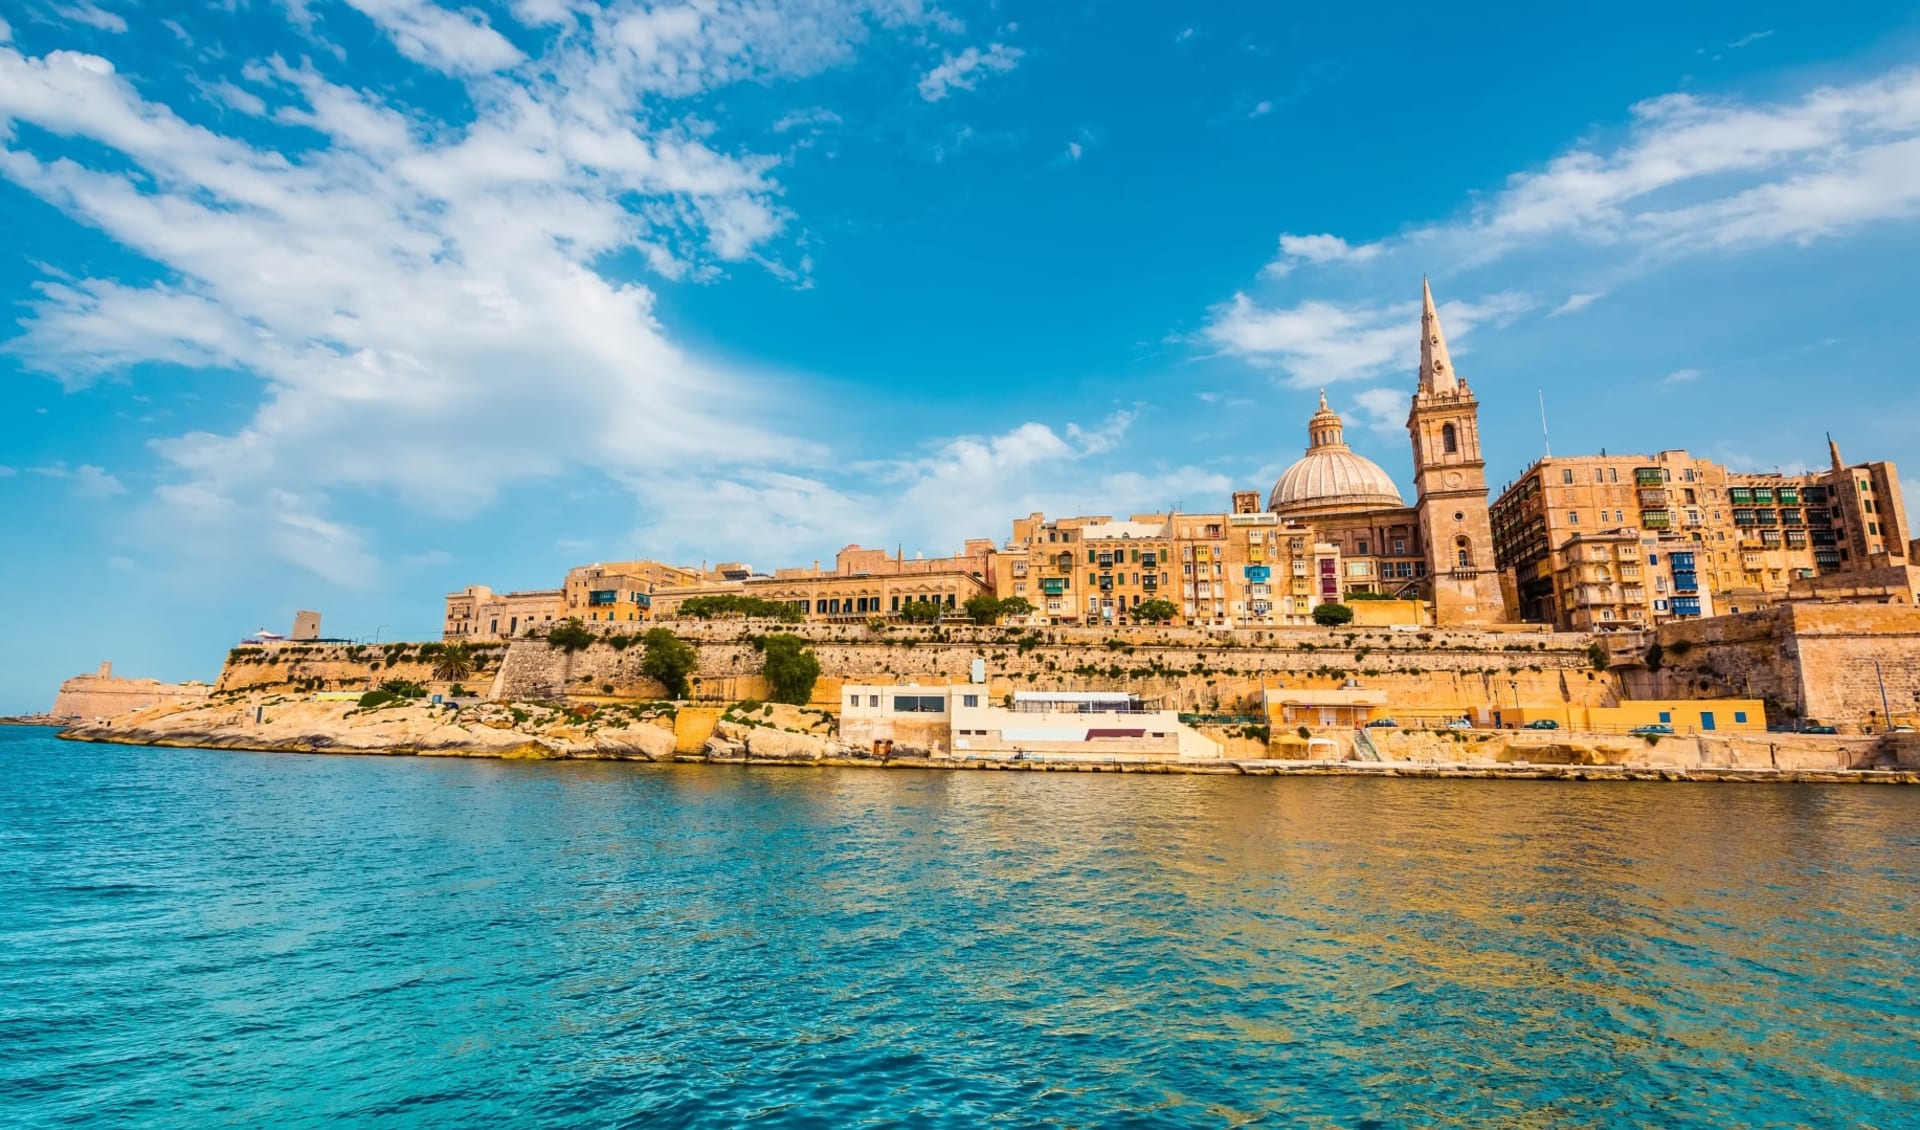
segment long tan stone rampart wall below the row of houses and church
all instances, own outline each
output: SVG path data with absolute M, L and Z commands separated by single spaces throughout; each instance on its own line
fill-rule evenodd
M 1361 679 L 1388 689 L 1400 708 L 1453 710 L 1500 702 L 1619 700 L 1611 677 L 1590 668 L 1588 637 L 1388 629 L 1275 629 L 1210 633 L 1196 629 L 1023 629 L 770 625 L 741 622 L 674 624 L 699 647 L 699 698 L 755 698 L 760 654 L 751 637 L 793 631 L 820 656 L 816 702 L 837 702 L 843 683 L 966 681 L 975 658 L 987 662 L 989 693 L 1106 689 L 1135 691 L 1181 710 L 1221 710 L 1258 700 L 1261 687 L 1338 687 Z M 563 652 L 515 641 L 493 683 L 495 698 L 649 696 L 659 687 L 639 673 L 643 648 L 595 643 Z

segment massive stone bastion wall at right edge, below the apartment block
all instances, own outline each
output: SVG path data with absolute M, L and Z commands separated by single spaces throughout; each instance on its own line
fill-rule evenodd
M 1636 654 L 1620 670 L 1636 698 L 1747 694 L 1768 718 L 1845 729 L 1885 729 L 1885 710 L 1920 718 L 1920 610 L 1905 604 L 1776 604 L 1665 624 L 1651 641 L 1657 668 Z

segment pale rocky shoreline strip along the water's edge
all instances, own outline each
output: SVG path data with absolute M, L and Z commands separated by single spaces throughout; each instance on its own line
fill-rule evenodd
M 1774 769 L 1732 765 L 1528 762 L 1308 762 L 1273 758 L 1144 756 L 876 756 L 831 733 L 826 712 L 791 706 L 622 708 L 589 714 L 486 702 L 465 710 L 265 696 L 194 706 L 165 704 L 60 731 L 65 741 L 286 754 L 438 756 L 495 760 L 622 760 L 657 764 L 795 765 L 1027 773 L 1204 773 L 1244 777 L 1400 777 L 1446 781 L 1716 781 L 1920 785 L 1920 769 Z

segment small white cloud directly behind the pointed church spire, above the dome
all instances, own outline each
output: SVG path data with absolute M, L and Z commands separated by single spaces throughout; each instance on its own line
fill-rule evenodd
M 1476 326 L 1500 324 L 1532 309 L 1521 294 L 1494 294 L 1476 303 L 1440 305 L 1448 343 L 1461 355 L 1461 341 Z M 1271 365 L 1294 388 L 1363 380 L 1390 368 L 1413 368 L 1419 357 L 1421 303 L 1342 305 L 1304 301 L 1294 307 L 1261 307 L 1244 294 L 1213 307 L 1204 338 L 1223 353 Z

